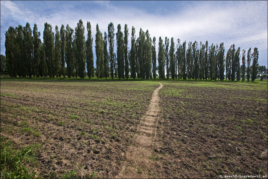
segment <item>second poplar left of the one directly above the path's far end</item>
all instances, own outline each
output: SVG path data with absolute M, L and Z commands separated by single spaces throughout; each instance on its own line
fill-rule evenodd
M 152 76 L 152 39 L 148 30 L 146 30 L 145 34 L 146 40 L 144 44 L 144 70 L 146 79 L 149 79 Z

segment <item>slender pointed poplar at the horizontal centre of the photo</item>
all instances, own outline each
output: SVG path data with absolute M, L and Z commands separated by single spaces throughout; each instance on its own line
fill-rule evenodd
M 135 51 L 135 28 L 132 26 L 131 31 L 131 49 L 130 49 L 130 75 L 132 78 L 136 78 L 136 51 Z

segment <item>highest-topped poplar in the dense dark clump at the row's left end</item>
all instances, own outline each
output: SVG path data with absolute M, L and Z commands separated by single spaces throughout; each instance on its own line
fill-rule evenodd
M 27 75 L 31 78 L 33 74 L 33 36 L 30 24 L 27 22 L 23 27 L 23 60 L 27 64 Z M 54 40 L 54 39 L 53 39 Z M 54 44 L 54 41 L 52 42 Z M 53 47 L 52 47 L 53 49 Z

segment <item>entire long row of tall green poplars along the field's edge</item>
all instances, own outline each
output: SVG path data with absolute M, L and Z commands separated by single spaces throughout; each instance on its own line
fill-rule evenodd
M 30 24 L 23 27 L 10 26 L 5 33 L 6 59 L 10 76 L 49 76 L 65 77 L 66 73 L 71 77 L 89 78 L 95 75 L 97 78 L 118 76 L 119 78 L 156 78 L 157 72 L 160 78 L 183 79 L 220 79 L 254 81 L 258 73 L 258 48 L 247 51 L 247 67 L 245 50 L 242 50 L 242 65 L 240 66 L 240 48 L 235 49 L 231 45 L 225 55 L 224 44 L 220 46 L 208 46 L 205 44 L 189 42 L 165 37 L 159 37 L 158 56 L 156 56 L 156 38 L 150 37 L 149 31 L 139 31 L 139 37 L 135 37 L 135 28 L 132 26 L 131 48 L 128 48 L 128 28 L 118 24 L 117 32 L 113 23 L 108 24 L 108 33 L 100 32 L 96 26 L 95 49 L 96 68 L 94 70 L 92 32 L 88 21 L 87 39 L 85 39 L 85 27 L 80 19 L 75 30 L 68 24 L 66 28 L 62 24 L 60 31 L 55 27 L 55 34 L 49 23 L 44 24 L 43 43 L 40 32 L 34 24 L 33 31 Z M 116 53 L 114 43 L 116 36 Z M 109 43 L 109 47 L 108 47 Z M 251 59 L 253 61 L 251 65 Z M 158 66 L 156 62 L 158 61 Z M 226 72 L 226 73 L 224 73 Z M 246 74 L 246 75 L 245 75 Z

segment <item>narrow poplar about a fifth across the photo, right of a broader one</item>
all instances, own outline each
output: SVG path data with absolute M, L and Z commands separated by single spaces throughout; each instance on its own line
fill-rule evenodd
M 58 26 L 55 26 L 55 54 L 54 54 L 54 61 L 55 61 L 55 74 L 56 77 L 60 77 L 60 68 L 61 68 L 61 40 L 60 40 L 60 34 L 59 34 L 59 28 Z

